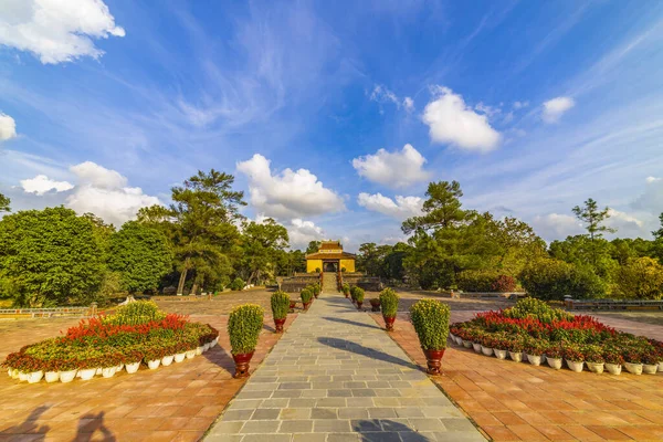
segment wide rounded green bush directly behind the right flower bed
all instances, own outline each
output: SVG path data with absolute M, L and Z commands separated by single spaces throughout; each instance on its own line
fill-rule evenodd
M 536 260 L 525 266 L 519 278 L 530 296 L 545 301 L 561 301 L 566 295 L 602 297 L 606 292 L 606 284 L 593 271 L 559 260 Z

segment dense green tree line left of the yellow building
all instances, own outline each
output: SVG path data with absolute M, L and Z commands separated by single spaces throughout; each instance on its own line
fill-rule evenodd
M 304 253 L 287 251 L 283 225 L 240 214 L 245 202 L 233 182 L 228 173 L 199 171 L 172 188 L 169 207 L 143 208 L 119 229 L 64 207 L 6 214 L 0 297 L 15 306 L 87 305 L 122 293 L 214 292 L 305 271 Z M 9 206 L 0 194 L 0 210 Z

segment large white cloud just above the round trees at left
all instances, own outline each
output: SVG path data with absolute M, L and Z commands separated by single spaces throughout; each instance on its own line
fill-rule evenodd
M 139 187 L 127 187 L 127 178 L 92 161 L 70 168 L 78 178 L 66 206 L 78 213 L 92 212 L 106 222 L 120 225 L 134 219 L 138 209 L 160 204 L 157 197 L 143 193 Z

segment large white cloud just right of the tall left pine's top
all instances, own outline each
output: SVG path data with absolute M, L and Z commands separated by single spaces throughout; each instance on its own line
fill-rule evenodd
M 238 170 L 249 177 L 251 204 L 261 213 L 277 219 L 294 219 L 345 210 L 343 199 L 323 186 L 306 169 L 285 169 L 272 175 L 270 160 L 255 154 L 238 162 Z

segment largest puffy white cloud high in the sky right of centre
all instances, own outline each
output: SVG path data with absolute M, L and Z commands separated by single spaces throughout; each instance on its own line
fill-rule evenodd
M 449 87 L 436 86 L 433 92 L 435 99 L 423 110 L 423 123 L 430 128 L 431 140 L 481 152 L 497 147 L 502 136 L 491 127 L 486 115 L 474 112 Z

